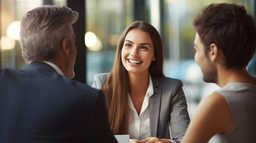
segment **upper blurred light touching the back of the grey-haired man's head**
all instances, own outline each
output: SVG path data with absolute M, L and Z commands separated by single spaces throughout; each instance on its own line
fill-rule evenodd
M 20 21 L 13 21 L 7 27 L 6 34 L 8 37 L 19 40 L 20 39 Z

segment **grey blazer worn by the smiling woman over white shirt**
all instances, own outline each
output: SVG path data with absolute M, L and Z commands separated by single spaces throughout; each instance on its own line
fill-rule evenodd
M 108 73 L 95 75 L 92 87 L 102 89 Z M 181 141 L 190 123 L 182 82 L 169 77 L 151 77 L 154 95 L 150 97 L 150 134 Z

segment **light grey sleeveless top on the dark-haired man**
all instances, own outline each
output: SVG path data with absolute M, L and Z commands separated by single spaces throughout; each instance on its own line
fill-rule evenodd
M 230 135 L 218 133 L 209 142 L 256 142 L 256 85 L 228 83 L 216 92 L 228 102 L 236 129 Z

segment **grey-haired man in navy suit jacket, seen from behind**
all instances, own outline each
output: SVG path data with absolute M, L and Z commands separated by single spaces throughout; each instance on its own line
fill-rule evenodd
M 75 80 L 78 13 L 44 5 L 22 19 L 21 70 L 0 72 L 0 142 L 117 142 L 102 91 Z

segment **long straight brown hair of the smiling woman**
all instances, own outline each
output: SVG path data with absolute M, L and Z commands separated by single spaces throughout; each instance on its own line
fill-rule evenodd
M 129 77 L 121 61 L 121 50 L 127 33 L 132 29 L 139 29 L 150 35 L 154 46 L 156 61 L 152 61 L 149 70 L 151 76 L 163 76 L 163 43 L 157 30 L 145 21 L 135 21 L 122 33 L 112 70 L 103 85 L 103 92 L 108 97 L 108 119 L 114 135 L 128 134 L 129 121 Z

